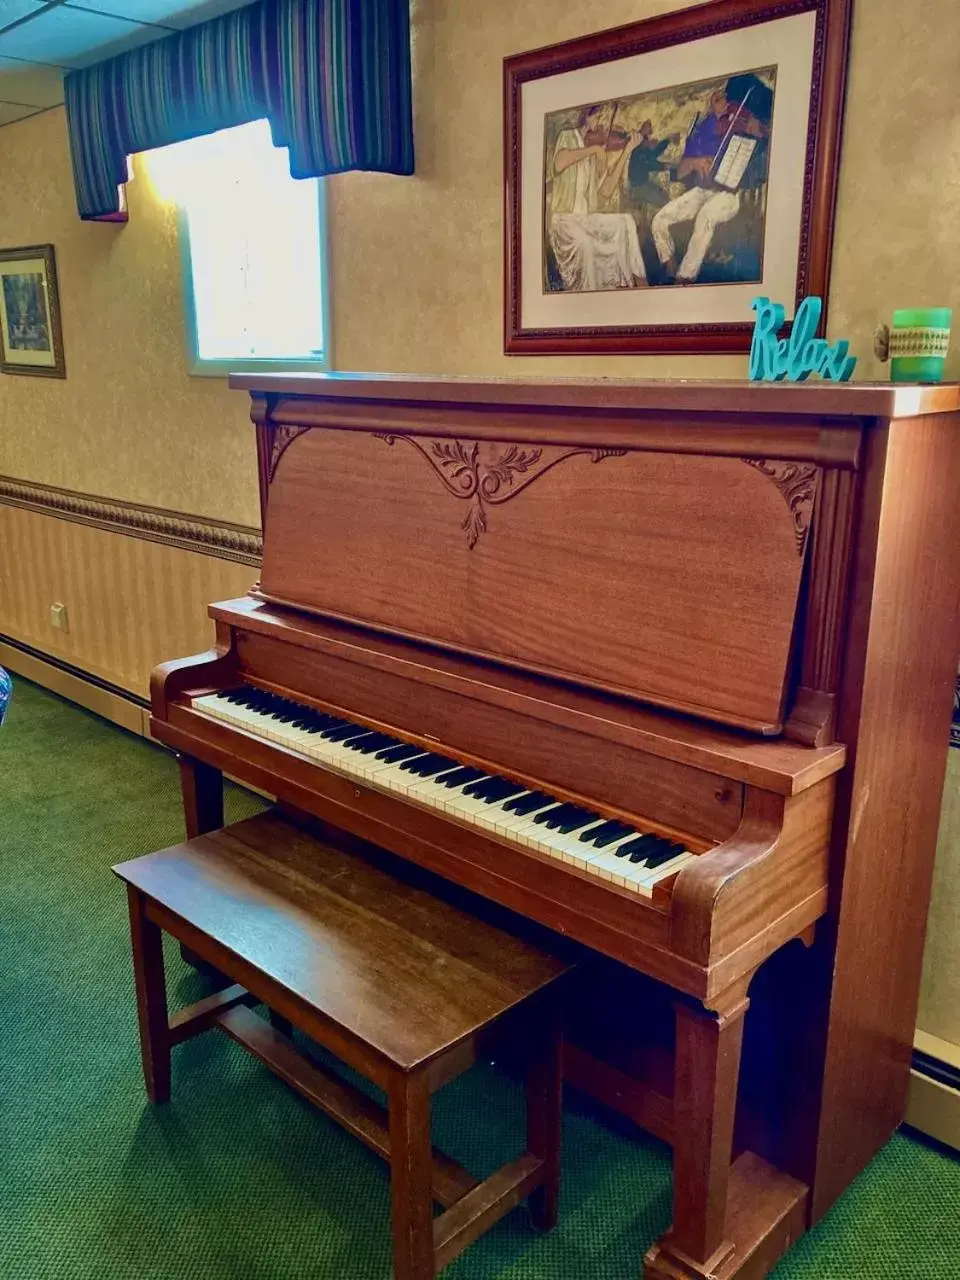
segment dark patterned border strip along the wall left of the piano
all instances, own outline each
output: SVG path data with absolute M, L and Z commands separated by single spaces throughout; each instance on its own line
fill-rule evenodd
M 70 520 L 78 525 L 92 525 L 128 538 L 141 538 L 148 543 L 164 543 L 182 550 L 215 556 L 238 564 L 259 567 L 262 550 L 260 530 L 250 525 L 233 525 L 225 520 L 205 520 L 182 511 L 163 507 L 145 507 L 116 498 L 79 493 L 76 489 L 58 489 L 55 485 L 35 484 L 0 475 L 0 503 L 22 507 L 42 516 Z

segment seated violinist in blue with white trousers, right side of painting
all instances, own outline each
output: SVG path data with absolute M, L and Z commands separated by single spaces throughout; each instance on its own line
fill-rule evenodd
M 652 233 L 664 283 L 692 284 L 717 228 L 736 218 L 741 196 L 765 184 L 773 105 L 771 88 L 754 74 L 733 76 L 710 95 L 709 111 L 698 119 L 677 165 L 687 189 L 654 216 Z M 672 228 L 694 228 L 680 266 Z

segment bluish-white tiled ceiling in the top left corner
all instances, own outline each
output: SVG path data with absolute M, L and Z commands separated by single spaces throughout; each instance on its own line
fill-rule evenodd
M 64 72 L 251 0 L 0 0 L 0 125 L 63 102 Z

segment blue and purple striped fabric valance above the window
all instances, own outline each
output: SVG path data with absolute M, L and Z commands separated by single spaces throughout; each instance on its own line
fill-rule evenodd
M 413 172 L 408 0 L 259 0 L 72 72 L 81 218 L 122 210 L 127 157 L 268 119 L 294 178 Z

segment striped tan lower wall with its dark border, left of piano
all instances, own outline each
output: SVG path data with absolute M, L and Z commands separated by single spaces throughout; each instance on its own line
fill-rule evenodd
M 209 648 L 207 604 L 242 595 L 259 563 L 256 529 L 0 476 L 3 660 L 33 675 L 31 655 L 49 657 L 145 699 L 156 663 Z

